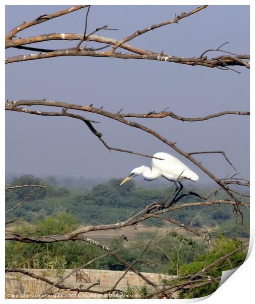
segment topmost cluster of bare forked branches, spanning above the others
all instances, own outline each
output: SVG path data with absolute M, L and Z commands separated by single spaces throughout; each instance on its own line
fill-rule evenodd
M 50 20 L 52 18 L 56 18 L 65 14 L 68 14 L 70 12 L 73 12 L 75 10 L 89 7 L 87 14 L 86 14 L 86 20 L 85 20 L 85 30 L 83 34 L 73 34 L 73 33 L 53 33 L 53 34 L 43 34 L 43 35 L 37 35 L 34 37 L 27 37 L 27 38 L 18 38 L 13 39 L 14 36 L 21 30 L 37 25 L 39 23 L 45 22 L 47 20 Z M 186 18 L 190 15 L 193 15 L 200 10 L 206 8 L 207 5 L 202 5 L 200 7 L 197 7 L 196 9 L 190 11 L 189 13 L 182 13 L 181 15 L 175 16 L 174 19 L 168 20 L 156 25 L 150 25 L 142 30 L 137 30 L 132 35 L 123 38 L 120 41 L 117 41 L 113 38 L 107 38 L 103 36 L 95 36 L 93 35 L 95 32 L 101 30 L 101 29 L 108 29 L 108 30 L 116 30 L 115 28 L 108 28 L 107 25 L 97 27 L 95 30 L 93 30 L 90 34 L 86 35 L 87 32 L 87 19 L 88 19 L 88 13 L 90 9 L 90 5 L 76 5 L 71 7 L 70 9 L 65 9 L 60 12 L 56 12 L 54 14 L 50 15 L 42 15 L 35 20 L 25 22 L 22 25 L 19 25 L 15 27 L 13 30 L 11 30 L 5 37 L 5 48 L 20 48 L 20 49 L 26 49 L 31 51 L 40 51 L 40 53 L 32 53 L 28 55 L 18 55 L 9 57 L 5 60 L 5 63 L 12 63 L 12 62 L 19 62 L 19 61 L 26 61 L 26 60 L 35 60 L 35 59 L 43 59 L 43 58 L 50 58 L 50 57 L 58 57 L 58 56 L 93 56 L 93 57 L 113 57 L 113 58 L 120 58 L 120 59 L 147 59 L 147 60 L 158 60 L 158 61 L 165 61 L 165 62 L 172 62 L 172 63 L 180 63 L 185 65 L 200 65 L 210 68 L 219 68 L 223 70 L 232 70 L 237 73 L 240 73 L 234 69 L 231 68 L 231 66 L 244 66 L 247 69 L 250 69 L 250 62 L 244 61 L 244 60 L 250 60 L 249 55 L 238 55 L 234 54 L 229 51 L 227 52 L 231 55 L 228 56 L 219 56 L 216 58 L 208 59 L 204 54 L 208 51 L 222 51 L 220 48 L 224 45 L 221 45 L 217 49 L 211 49 L 203 52 L 203 54 L 199 57 L 178 57 L 178 56 L 172 56 L 170 54 L 166 55 L 161 53 L 156 53 L 154 51 L 147 51 L 140 48 L 133 47 L 131 45 L 128 45 L 126 42 L 138 37 L 139 35 L 142 35 L 150 30 L 159 28 L 164 25 L 170 25 L 173 23 L 178 23 L 179 20 Z M 24 44 L 31 44 L 31 43 L 37 43 L 37 42 L 43 42 L 47 40 L 79 40 L 78 45 L 75 48 L 69 48 L 69 49 L 58 49 L 58 50 L 46 50 L 46 49 L 40 49 L 40 48 L 30 48 L 30 47 L 23 47 Z M 107 46 L 100 47 L 100 48 L 80 48 L 80 45 L 83 41 L 94 41 L 97 43 L 107 43 Z M 103 51 L 103 52 L 97 52 L 99 50 L 102 50 L 108 45 L 112 45 L 113 47 L 110 49 L 110 51 Z M 128 51 L 132 51 L 132 53 L 121 53 L 116 52 L 117 48 L 123 48 Z

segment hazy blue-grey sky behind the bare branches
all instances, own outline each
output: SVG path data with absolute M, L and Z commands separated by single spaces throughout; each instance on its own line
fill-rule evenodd
M 10 29 L 66 8 L 61 5 L 7 5 L 6 28 Z M 106 37 L 121 39 L 138 29 L 172 19 L 196 6 L 92 6 L 88 32 L 108 25 L 118 31 L 100 31 Z M 53 19 L 18 34 L 27 37 L 45 33 L 83 33 L 87 9 Z M 236 22 L 238 20 L 239 22 Z M 224 50 L 250 53 L 249 6 L 218 6 L 166 25 L 134 39 L 130 44 L 178 56 L 199 56 L 204 50 L 229 41 Z M 65 48 L 77 42 L 49 41 L 34 47 Z M 88 43 L 95 47 L 95 43 Z M 8 50 L 6 56 L 31 51 Z M 219 52 L 208 53 L 218 56 Z M 250 101 L 250 75 L 242 67 L 240 75 L 205 67 L 190 67 L 149 60 L 121 60 L 94 57 L 58 57 L 6 65 L 6 99 L 48 99 L 104 106 L 117 112 L 146 113 L 166 107 L 185 117 L 199 117 L 224 110 L 247 111 Z M 38 108 L 39 109 L 39 108 Z M 107 118 L 87 114 L 100 121 L 95 127 L 103 139 L 117 148 L 146 154 L 168 152 L 185 162 L 199 177 L 209 178 L 188 160 L 149 134 Z M 245 177 L 249 177 L 249 117 L 221 116 L 204 122 L 180 122 L 172 118 L 131 119 L 151 127 L 186 152 L 223 150 Z M 113 151 L 110 153 L 84 123 L 68 117 L 41 117 L 6 113 L 6 172 L 35 175 L 84 177 L 123 177 L 150 159 Z M 195 156 L 217 177 L 233 170 L 222 155 Z

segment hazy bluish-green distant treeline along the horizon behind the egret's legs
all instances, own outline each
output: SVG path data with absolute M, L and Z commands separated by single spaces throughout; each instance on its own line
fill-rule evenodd
M 24 184 L 41 184 L 42 179 L 32 175 L 14 177 L 8 186 Z M 133 180 L 119 187 L 120 179 L 113 178 L 107 182 L 94 184 L 90 188 L 80 190 L 77 187 L 59 187 L 56 181 L 50 179 L 46 184 L 47 191 L 40 188 L 25 187 L 7 190 L 5 196 L 6 210 L 10 209 L 23 200 L 30 201 L 6 214 L 6 219 L 23 219 L 31 222 L 34 219 L 42 220 L 48 215 L 65 210 L 72 214 L 80 224 L 113 224 L 124 221 L 136 212 L 152 202 L 161 202 L 170 192 L 170 187 L 164 188 L 141 188 Z M 70 183 L 71 184 L 71 183 Z M 172 186 L 172 183 L 170 183 Z M 207 194 L 211 189 L 184 188 L 184 191 L 194 191 L 200 195 Z M 224 199 L 226 195 L 219 191 L 215 199 Z M 247 198 L 242 198 L 243 201 Z M 32 201 L 32 202 L 31 202 Z M 189 203 L 203 201 L 196 196 L 187 196 L 178 202 Z M 188 207 L 175 210 L 166 214 L 172 219 L 178 220 L 184 225 L 189 225 L 195 215 L 201 210 L 200 207 Z M 250 214 L 241 207 L 244 214 L 244 226 L 237 219 L 235 228 L 235 213 L 231 205 L 207 206 L 199 213 L 193 224 L 196 227 L 212 227 L 215 231 L 223 232 L 233 237 L 248 237 Z M 149 219 L 144 225 L 162 226 L 164 223 L 158 219 Z

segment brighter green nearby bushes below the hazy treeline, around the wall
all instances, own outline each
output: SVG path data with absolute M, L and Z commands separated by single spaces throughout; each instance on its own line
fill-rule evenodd
M 20 222 L 17 232 L 21 234 L 54 235 L 61 233 L 69 233 L 78 228 L 77 219 L 65 210 L 59 210 L 52 216 L 46 216 L 43 220 L 38 218 L 33 221 L 33 225 Z M 121 250 L 118 256 L 129 264 L 133 263 L 143 252 L 144 246 L 151 240 L 151 234 L 141 234 L 136 241 L 129 241 L 127 245 L 122 237 L 115 238 L 110 244 L 113 251 Z M 243 243 L 237 239 L 228 239 L 222 234 L 218 234 L 217 238 L 212 240 L 218 248 L 225 253 L 231 253 L 237 248 L 243 246 Z M 164 238 L 154 238 L 152 243 L 157 247 L 150 246 L 140 256 L 139 261 L 135 263 L 135 267 L 143 272 L 165 273 L 168 275 L 178 275 L 179 278 L 190 276 L 201 271 L 224 254 L 214 248 L 209 251 L 205 249 L 203 242 L 199 243 L 194 239 L 185 235 L 172 232 Z M 128 246 L 134 248 L 127 250 Z M 162 249 L 162 250 L 161 250 Z M 57 242 L 48 244 L 30 244 L 23 242 L 6 242 L 5 261 L 6 267 L 21 268 L 43 268 L 46 271 L 57 270 L 57 275 L 61 276 L 66 268 L 74 269 L 81 265 L 85 265 L 92 259 L 104 254 L 100 248 L 82 241 Z M 229 257 L 232 267 L 239 266 L 245 259 L 246 254 L 239 251 Z M 97 260 L 86 268 L 107 269 L 107 270 L 125 270 L 126 267 L 116 260 L 112 255 L 108 255 L 103 259 Z M 212 278 L 218 278 L 223 270 L 230 269 L 229 263 L 225 260 L 212 268 L 207 275 Z M 199 277 L 198 277 L 199 278 Z M 172 283 L 178 282 L 176 279 Z M 167 277 L 162 279 L 166 283 Z M 181 291 L 180 298 L 198 298 L 209 295 L 214 292 L 218 283 L 213 282 L 191 291 Z M 150 293 L 147 285 L 140 289 L 135 289 L 127 284 L 124 294 L 142 296 Z

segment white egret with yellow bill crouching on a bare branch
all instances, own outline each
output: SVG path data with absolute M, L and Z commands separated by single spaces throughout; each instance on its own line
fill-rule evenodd
M 126 181 L 140 174 L 145 180 L 153 180 L 158 177 L 165 177 L 166 179 L 173 181 L 177 185 L 177 188 L 175 189 L 174 193 L 177 190 L 178 191 L 174 199 L 172 200 L 172 202 L 174 202 L 178 194 L 183 189 L 183 185 L 181 184 L 179 179 L 189 179 L 193 181 L 198 180 L 198 176 L 173 155 L 158 152 L 153 156 L 162 158 L 163 160 L 152 158 L 151 169 L 146 166 L 140 166 L 138 168 L 133 169 L 130 175 L 127 176 L 124 180 L 122 180 L 120 186 L 123 185 Z

